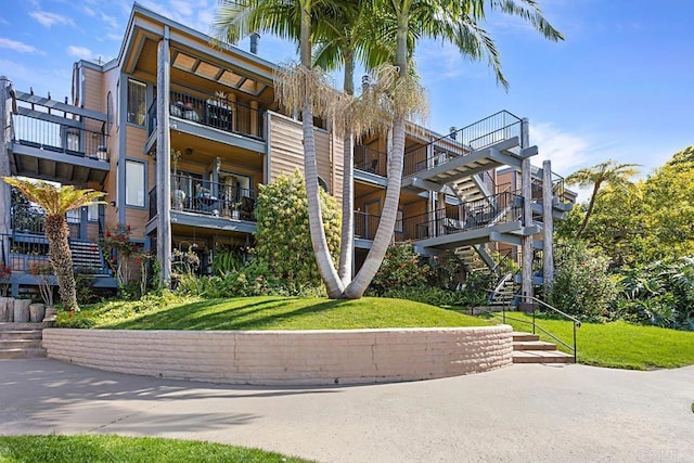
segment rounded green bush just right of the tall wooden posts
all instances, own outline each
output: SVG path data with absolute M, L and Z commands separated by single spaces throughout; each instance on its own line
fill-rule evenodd
M 616 279 L 607 274 L 609 259 L 580 242 L 556 248 L 556 276 L 545 287 L 548 304 L 589 321 L 603 321 L 617 295 Z

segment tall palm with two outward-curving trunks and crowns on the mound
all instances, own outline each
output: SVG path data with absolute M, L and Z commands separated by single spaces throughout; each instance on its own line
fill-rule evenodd
M 322 79 L 311 65 L 312 20 L 320 21 L 320 8 L 338 10 L 342 4 L 352 2 L 331 2 L 329 0 L 247 0 L 223 2 L 218 11 L 215 27 L 217 37 L 234 39 L 261 28 L 288 38 L 298 38 L 300 65 L 284 73 L 275 82 L 275 92 L 285 106 L 300 107 L 304 129 L 305 173 L 309 207 L 309 223 L 313 252 L 319 272 L 330 297 L 359 298 L 375 275 L 385 256 L 395 230 L 402 179 L 406 120 L 421 107 L 422 89 L 410 73 L 409 59 L 417 38 L 430 37 L 454 43 L 461 53 L 472 59 L 489 57 L 498 80 L 506 86 L 501 74 L 499 53 L 487 33 L 479 28 L 477 21 L 485 17 L 485 4 L 505 13 L 517 15 L 540 30 L 545 37 L 557 40 L 561 34 L 542 17 L 535 1 L 526 1 L 528 8 L 512 0 L 467 0 L 416 1 L 397 0 L 357 2 L 363 8 L 373 8 L 371 14 L 383 18 L 383 27 L 375 30 L 381 40 L 395 44 L 393 61 L 395 72 L 380 74 L 380 85 L 385 91 L 377 94 L 372 103 L 388 110 L 393 132 L 393 149 L 388 153 L 388 183 L 383 214 L 364 265 L 357 276 L 348 281 L 348 275 L 339 275 L 330 257 L 325 235 L 321 227 L 321 209 L 318 197 L 318 173 L 312 129 L 313 111 L 330 113 L 325 106 L 330 92 L 322 88 Z M 313 7 L 319 9 L 314 10 Z M 284 15 L 284 16 L 282 16 Z M 299 26 L 297 27 L 297 21 Z M 412 21 L 410 21 L 412 18 Z M 412 28 L 411 28 L 412 26 Z M 320 29 L 319 29 L 320 30 Z M 297 34 L 298 33 L 298 34 Z M 388 41 L 389 40 L 389 41 Z M 371 93 L 371 92 L 370 92 Z M 375 94 L 371 93 L 372 95 Z M 347 99 L 349 101 L 349 99 Z M 330 104 L 327 105 L 330 106 Z M 367 105 L 363 107 L 371 107 Z M 333 107 L 334 110 L 334 107 Z M 380 115 L 381 116 L 381 115 Z M 382 119 L 383 120 L 383 119 Z M 345 236 L 343 236 L 345 240 Z M 342 266 L 340 266 L 342 268 Z M 340 279 L 340 276 L 344 278 Z

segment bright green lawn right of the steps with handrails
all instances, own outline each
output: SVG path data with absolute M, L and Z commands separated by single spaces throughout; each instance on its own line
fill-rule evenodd
M 510 312 L 509 317 L 531 321 L 523 312 Z M 500 321 L 501 318 L 493 320 Z M 531 331 L 531 325 L 506 319 L 517 331 Z M 538 325 L 562 340 L 573 343 L 573 324 L 564 320 L 538 319 Z M 554 340 L 542 334 L 540 338 Z M 576 331 L 578 361 L 595 366 L 629 370 L 678 368 L 694 364 L 694 333 L 657 326 L 642 326 L 622 321 L 611 323 L 582 323 Z M 560 348 L 564 351 L 568 349 Z

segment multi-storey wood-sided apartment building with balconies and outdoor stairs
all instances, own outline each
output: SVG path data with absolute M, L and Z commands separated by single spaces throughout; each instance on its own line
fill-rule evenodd
M 194 250 L 201 272 L 210 272 L 216 249 L 253 244 L 259 185 L 303 170 L 301 124 L 275 101 L 274 70 L 254 53 L 211 47 L 208 36 L 134 4 L 118 56 L 74 65 L 70 104 L 8 93 L 2 155 L 11 175 L 105 193 L 106 205 L 68 217 L 73 252 L 100 275 L 98 284 L 114 283 L 91 252 L 118 226 L 129 226 L 132 241 L 156 252 L 165 278 L 176 249 Z M 319 182 L 339 200 L 342 134 L 329 123 L 314 125 Z M 528 121 L 505 111 L 446 136 L 410 126 L 394 240 L 411 240 L 426 255 L 475 253 L 490 268 L 491 247 L 538 247 L 544 217 L 561 218 L 566 195 L 543 173 L 549 166 L 531 167 L 538 150 L 527 133 Z M 385 136 L 360 140 L 355 150 L 358 266 L 378 224 L 386 153 Z M 501 188 L 500 168 L 520 172 L 517 184 Z M 532 178 L 540 179 L 532 184 L 548 197 L 544 206 L 542 195 L 532 196 Z M 16 293 L 31 283 L 22 256 L 39 255 L 44 243 L 40 219 L 24 227 L 15 216 L 0 228 L 0 259 L 13 262 Z M 551 245 L 545 239 L 550 256 Z M 532 254 L 524 254 L 528 259 Z

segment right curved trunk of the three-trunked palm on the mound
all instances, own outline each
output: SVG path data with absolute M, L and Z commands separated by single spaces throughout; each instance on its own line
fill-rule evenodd
M 398 11 L 398 33 L 396 49 L 396 65 L 399 67 L 400 78 L 407 77 L 407 36 L 409 26 L 409 1 L 403 1 Z M 404 157 L 404 117 L 396 116 L 393 121 L 393 152 L 388 153 L 388 184 L 386 198 L 378 221 L 378 230 L 373 240 L 364 265 L 357 276 L 345 288 L 345 297 L 358 299 L 363 296 L 371 280 L 375 276 L 395 231 L 400 202 L 400 187 L 402 184 L 402 164 Z

